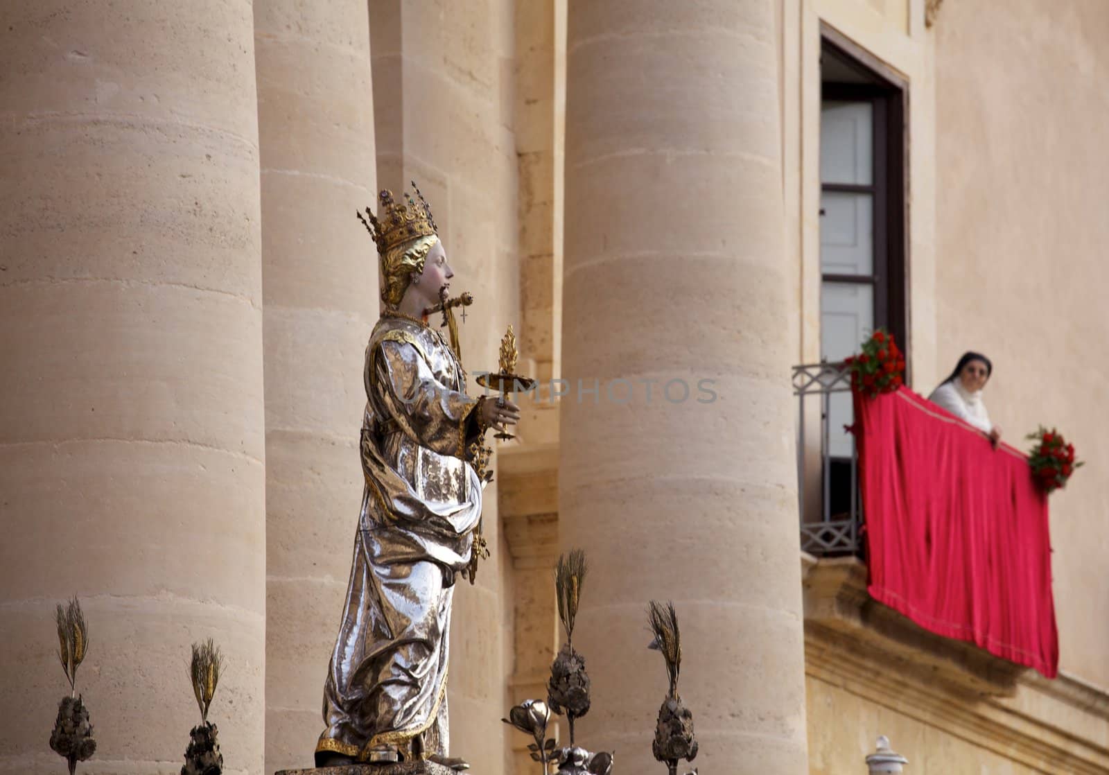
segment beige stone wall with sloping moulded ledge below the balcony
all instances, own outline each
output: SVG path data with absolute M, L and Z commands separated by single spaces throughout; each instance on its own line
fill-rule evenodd
M 1027 674 L 1015 696 L 952 693 L 916 665 L 806 644 L 811 775 L 865 773 L 878 735 L 910 775 L 1100 775 L 1109 772 L 1103 695 L 1069 679 Z

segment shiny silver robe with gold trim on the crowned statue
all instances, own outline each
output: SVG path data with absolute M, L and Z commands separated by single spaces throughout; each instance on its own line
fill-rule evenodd
M 434 329 L 381 317 L 366 348 L 366 486 L 343 621 L 324 686 L 317 756 L 394 746 L 447 753 L 447 635 L 469 563 L 481 485 L 461 365 Z

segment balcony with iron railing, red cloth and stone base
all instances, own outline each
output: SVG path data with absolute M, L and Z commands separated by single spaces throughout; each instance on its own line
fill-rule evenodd
M 1047 501 L 1024 453 L 905 388 L 854 397 L 842 364 L 795 367 L 793 390 L 806 636 L 977 694 L 1054 677 Z

